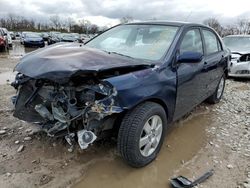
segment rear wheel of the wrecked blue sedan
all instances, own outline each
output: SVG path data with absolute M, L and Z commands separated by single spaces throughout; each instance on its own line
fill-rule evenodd
M 218 86 L 216 87 L 213 95 L 211 95 L 208 99 L 207 102 L 210 104 L 216 104 L 218 102 L 220 102 L 223 93 L 224 93 L 224 89 L 225 89 L 225 82 L 226 82 L 226 76 L 225 74 L 223 74 L 223 76 L 220 79 L 220 82 L 218 84 Z

